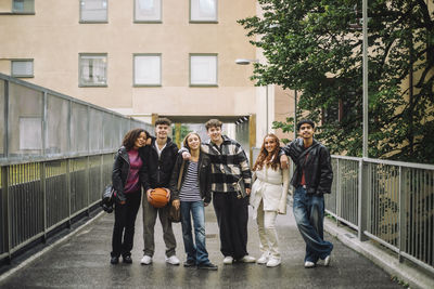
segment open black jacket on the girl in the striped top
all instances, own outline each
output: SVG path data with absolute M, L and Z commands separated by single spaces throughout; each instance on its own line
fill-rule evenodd
M 181 170 L 182 166 L 182 155 L 179 154 L 177 161 L 175 163 L 174 172 L 171 173 L 171 180 L 170 180 L 170 200 L 174 199 L 179 199 L 179 191 L 178 191 L 178 178 L 179 178 L 179 172 Z M 186 160 L 186 165 L 183 166 L 183 172 L 181 176 L 181 184 L 180 187 L 182 187 L 183 181 L 186 179 L 187 170 L 189 168 L 189 161 Z M 204 200 L 204 202 L 209 203 L 210 202 L 210 159 L 209 157 L 202 153 L 199 155 L 199 161 L 197 161 L 197 176 L 199 176 L 199 189 L 201 192 L 201 198 Z

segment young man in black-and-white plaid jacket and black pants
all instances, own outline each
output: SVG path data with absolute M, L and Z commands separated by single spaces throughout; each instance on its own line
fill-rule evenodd
M 220 235 L 220 251 L 224 264 L 233 261 L 253 263 L 255 258 L 247 252 L 248 198 L 240 197 L 238 182 L 242 179 L 245 194 L 251 193 L 252 172 L 241 145 L 221 135 L 221 121 L 210 119 L 205 123 L 209 141 L 202 150 L 212 161 L 213 205 Z M 182 156 L 189 158 L 187 149 Z

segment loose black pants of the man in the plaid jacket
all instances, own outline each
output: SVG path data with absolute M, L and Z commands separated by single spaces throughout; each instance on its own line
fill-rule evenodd
M 220 251 L 234 260 L 247 253 L 248 198 L 239 199 L 235 193 L 214 193 Z

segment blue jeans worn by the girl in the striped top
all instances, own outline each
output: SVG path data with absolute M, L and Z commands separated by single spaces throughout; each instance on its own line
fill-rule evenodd
M 195 244 L 193 241 L 191 218 L 193 218 L 194 223 Z M 197 265 L 209 263 L 205 246 L 205 209 L 202 200 L 181 201 L 181 225 L 187 261 L 193 261 Z

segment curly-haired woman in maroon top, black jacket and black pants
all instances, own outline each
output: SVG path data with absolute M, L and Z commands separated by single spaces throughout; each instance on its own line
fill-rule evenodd
M 119 255 L 130 264 L 135 223 L 140 208 L 141 187 L 145 179 L 142 147 L 149 133 L 143 129 L 129 131 L 123 146 L 115 155 L 112 184 L 115 191 L 115 224 L 112 236 L 111 263 L 117 264 Z M 124 238 L 123 238 L 124 237 Z

